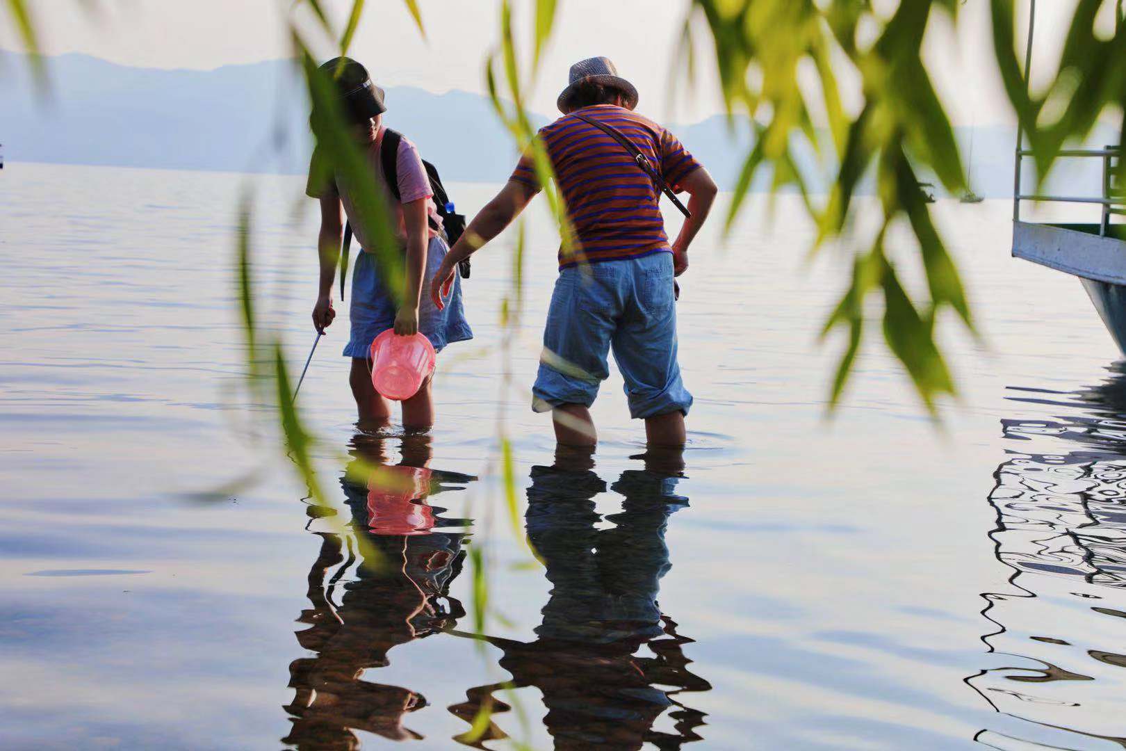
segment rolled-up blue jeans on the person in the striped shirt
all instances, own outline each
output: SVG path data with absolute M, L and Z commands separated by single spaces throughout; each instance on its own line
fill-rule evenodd
M 688 414 L 692 395 L 677 363 L 672 287 L 672 253 L 664 251 L 562 269 L 547 312 L 533 409 L 593 404 L 609 377 L 606 357 L 613 349 L 631 415 Z

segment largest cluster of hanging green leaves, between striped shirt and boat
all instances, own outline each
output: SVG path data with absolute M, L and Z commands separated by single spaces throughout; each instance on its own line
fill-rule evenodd
M 712 33 L 729 114 L 742 110 L 757 128 L 757 138 L 742 158 L 726 230 L 731 231 L 745 207 L 758 172 L 769 169 L 772 191 L 796 186 L 806 211 L 817 223 L 812 256 L 826 241 L 841 238 L 847 227 L 858 224 L 854 222 L 858 211 L 854 197 L 861 184 L 875 176 L 883 229 L 872 251 L 855 260 L 851 285 L 825 324 L 826 332 L 838 327 L 849 330 L 831 402 L 839 401 L 855 367 L 866 329 L 866 299 L 882 294 L 885 341 L 932 408 L 938 394 L 953 390 L 932 338 L 936 315 L 950 306 L 971 330 L 973 321 L 957 268 L 929 208 L 921 202 L 914 167 L 917 163 L 918 170 L 937 176 L 950 191 L 964 187 L 954 128 L 921 57 L 932 15 L 946 12 L 956 20 L 958 3 L 901 1 L 890 9 L 877 9 L 867 0 L 692 0 L 691 6 L 690 18 L 701 20 Z M 875 44 L 857 43 L 861 36 L 870 37 L 873 30 Z M 686 29 L 681 37 L 680 48 L 686 50 L 685 39 L 690 41 L 691 30 Z M 797 80 L 798 70 L 803 65 L 808 70 L 810 62 L 821 84 L 820 108 L 829 138 L 819 135 L 811 114 L 813 100 L 806 100 L 815 90 Z M 858 78 L 863 87 L 855 116 L 846 111 L 838 84 L 846 75 L 846 66 L 851 68 L 850 78 Z M 794 157 L 795 145 L 805 145 L 803 138 L 817 154 L 824 154 L 826 149 L 835 152 L 833 158 L 821 160 L 835 164 L 823 206 L 811 199 L 806 187 L 815 168 Z M 886 261 L 885 231 L 900 218 L 910 222 L 919 240 L 929 301 L 912 301 Z M 906 316 L 906 323 L 899 322 L 897 316 Z M 921 343 L 909 346 L 904 330 L 920 333 Z

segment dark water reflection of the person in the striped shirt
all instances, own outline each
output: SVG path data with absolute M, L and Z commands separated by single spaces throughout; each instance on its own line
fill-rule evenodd
M 640 749 L 645 742 L 670 749 L 698 740 L 694 728 L 704 714 L 674 697 L 711 686 L 688 670 L 681 649 L 691 640 L 676 633 L 656 604 L 670 569 L 664 529 L 669 516 L 688 504 L 674 493 L 680 453 L 651 453 L 644 470 L 624 472 L 611 486 L 624 497 L 623 510 L 605 517 L 613 527 L 598 529 L 604 517 L 592 499 L 606 483 L 591 471 L 589 454 L 560 452 L 554 466 L 533 467 L 526 517 L 553 584 L 551 599 L 535 642 L 489 640 L 504 651 L 500 665 L 512 674 L 511 685 L 543 692 L 544 723 L 557 749 Z M 637 656 L 643 645 L 654 656 Z M 502 710 L 492 694 L 504 686 L 473 689 L 452 710 L 467 721 L 483 701 Z M 670 708 L 676 733 L 654 731 Z

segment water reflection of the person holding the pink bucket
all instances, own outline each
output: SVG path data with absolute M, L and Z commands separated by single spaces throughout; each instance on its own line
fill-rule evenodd
M 355 457 L 341 479 L 352 513 L 356 542 L 321 533 L 321 552 L 309 573 L 312 608 L 300 623 L 297 642 L 315 652 L 289 665 L 293 701 L 285 709 L 293 728 L 284 743 L 307 749 L 355 749 L 355 730 L 391 740 L 420 739 L 403 726 L 406 713 L 426 706 L 418 692 L 361 680 L 364 671 L 388 664 L 387 652 L 422 638 L 465 615 L 449 597 L 449 584 L 462 569 L 464 534 L 427 498 L 473 477 L 432 471 L 428 436 L 403 438 L 403 462 L 388 466 L 383 438 L 359 435 Z M 311 507 L 311 516 L 320 513 Z M 345 562 L 345 543 L 348 561 Z M 365 552 L 367 555 L 365 555 Z M 357 565 L 336 602 L 337 581 Z M 325 587 L 330 569 L 345 563 Z

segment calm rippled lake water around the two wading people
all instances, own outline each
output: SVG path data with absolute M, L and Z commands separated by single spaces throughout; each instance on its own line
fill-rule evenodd
M 300 369 L 314 206 L 250 180 L 0 172 L 0 748 L 457 748 L 489 701 L 490 749 L 1126 745 L 1126 372 L 1076 280 L 1009 258 L 1008 203 L 935 207 L 982 333 L 948 322 L 940 423 L 878 330 L 826 417 L 847 259 L 806 265 L 796 202 L 703 236 L 682 471 L 641 456 L 616 372 L 593 461 L 556 462 L 528 409 L 536 205 L 510 356 L 508 239 L 474 261 L 429 440 L 357 436 L 338 306 L 300 400 L 327 516 L 249 403 L 232 275 L 251 185 L 258 307 Z

